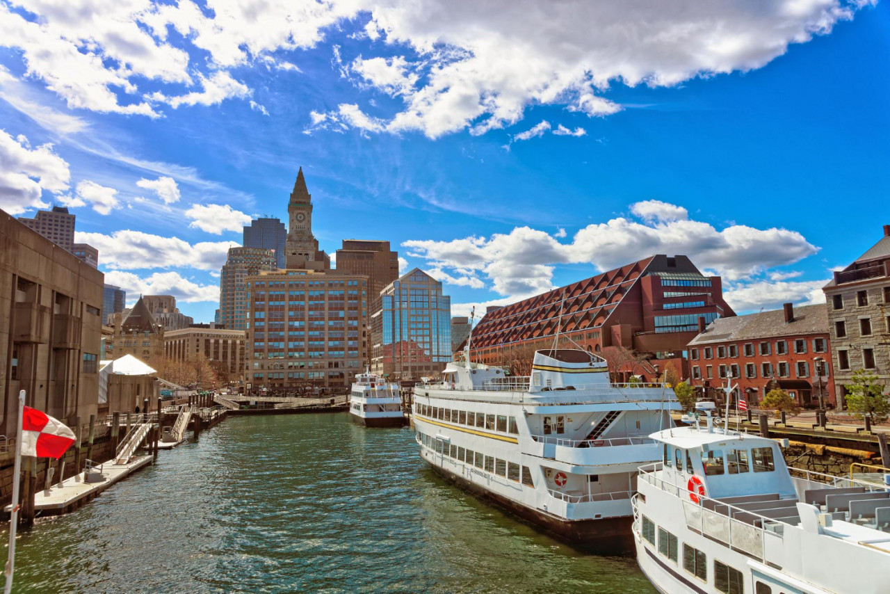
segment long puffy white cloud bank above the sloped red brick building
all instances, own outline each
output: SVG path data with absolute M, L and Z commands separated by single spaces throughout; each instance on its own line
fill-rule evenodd
M 516 227 L 488 239 L 409 240 L 401 245 L 409 256 L 425 259 L 443 274 L 457 279 L 483 274 L 491 289 L 513 297 L 552 289 L 554 264 L 592 264 L 605 271 L 655 254 L 685 255 L 700 269 L 733 281 L 818 251 L 798 232 L 744 225 L 718 231 L 711 224 L 679 218 L 686 210 L 664 202 L 637 203 L 631 211 L 639 212 L 643 222 L 618 217 L 590 224 L 568 243 L 558 241 L 559 234 Z

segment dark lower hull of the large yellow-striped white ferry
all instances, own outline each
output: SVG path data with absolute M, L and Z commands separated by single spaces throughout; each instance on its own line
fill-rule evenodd
M 479 484 L 474 484 L 463 476 L 430 463 L 430 467 L 451 483 L 472 493 L 481 500 L 490 501 L 498 508 L 504 509 L 526 523 L 550 533 L 562 541 L 591 552 L 618 555 L 630 554 L 634 551 L 632 535 L 633 517 L 606 517 L 603 519 L 563 520 L 546 514 L 538 509 L 528 508 L 514 500 L 507 499 L 496 492 L 490 492 Z

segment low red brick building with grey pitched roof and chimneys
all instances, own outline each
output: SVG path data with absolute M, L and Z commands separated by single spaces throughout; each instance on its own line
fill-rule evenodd
M 780 388 L 806 408 L 818 407 L 820 396 L 836 404 L 825 305 L 718 318 L 689 343 L 689 360 L 690 384 L 718 402 L 731 377 L 748 403 Z

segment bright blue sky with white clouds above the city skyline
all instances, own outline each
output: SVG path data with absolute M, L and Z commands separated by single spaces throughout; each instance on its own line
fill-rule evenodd
M 299 167 L 455 315 L 652 254 L 820 303 L 890 224 L 888 63 L 868 0 L 0 0 L 0 208 L 196 321 Z

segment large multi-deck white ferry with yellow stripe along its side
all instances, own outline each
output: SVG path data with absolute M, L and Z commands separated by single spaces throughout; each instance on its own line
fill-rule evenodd
M 564 539 L 631 545 L 638 468 L 660 460 L 648 435 L 680 409 L 662 385 L 612 385 L 584 350 L 538 351 L 530 377 L 451 362 L 414 390 L 424 460 L 442 476 Z

